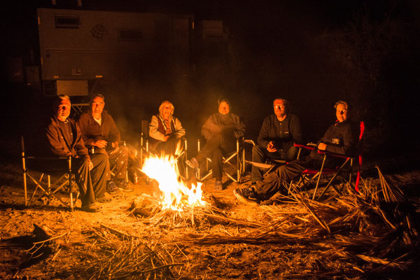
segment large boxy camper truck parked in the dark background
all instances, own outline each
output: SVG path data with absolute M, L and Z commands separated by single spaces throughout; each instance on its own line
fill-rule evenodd
M 45 95 L 88 95 L 103 80 L 194 68 L 193 15 L 38 8 Z

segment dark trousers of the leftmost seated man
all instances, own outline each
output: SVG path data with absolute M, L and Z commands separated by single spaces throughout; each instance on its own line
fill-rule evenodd
M 90 156 L 93 169 L 89 170 L 89 162 L 75 159 L 78 172 L 76 181 L 80 189 L 82 207 L 96 202 L 97 198 L 103 197 L 106 190 L 106 179 L 109 176 L 108 155 L 96 153 Z

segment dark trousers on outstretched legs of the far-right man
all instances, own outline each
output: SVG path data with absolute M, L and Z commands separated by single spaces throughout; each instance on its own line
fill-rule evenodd
M 269 200 L 279 190 L 286 190 L 283 188 L 283 183 L 290 183 L 292 179 L 300 175 L 305 169 L 321 169 L 323 155 L 318 155 L 312 151 L 311 155 L 300 160 L 294 160 L 288 165 L 281 165 L 275 172 L 269 174 L 261 183 L 255 188 L 261 200 Z M 325 167 L 332 168 L 337 165 L 337 162 L 325 160 Z

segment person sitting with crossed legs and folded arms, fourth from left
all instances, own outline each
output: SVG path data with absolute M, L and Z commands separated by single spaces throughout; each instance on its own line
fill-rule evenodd
M 202 127 L 202 135 L 207 144 L 195 158 L 186 161 L 187 165 L 197 169 L 200 162 L 211 158 L 212 175 L 216 179 L 214 188 L 222 190 L 223 155 L 235 151 L 236 139 L 244 134 L 245 125 L 239 116 L 230 113 L 229 100 L 219 99 L 218 113 L 212 114 Z

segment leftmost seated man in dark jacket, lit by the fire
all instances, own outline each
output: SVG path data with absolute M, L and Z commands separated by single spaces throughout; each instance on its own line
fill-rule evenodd
M 59 95 L 54 109 L 55 116 L 46 130 L 50 151 L 59 157 L 74 158 L 73 164 L 78 168 L 76 181 L 82 209 L 100 211 L 101 207 L 96 202 L 101 202 L 105 197 L 106 177 L 109 176 L 108 157 L 102 154 L 88 155 L 78 126 L 69 118 L 71 102 L 68 96 Z

